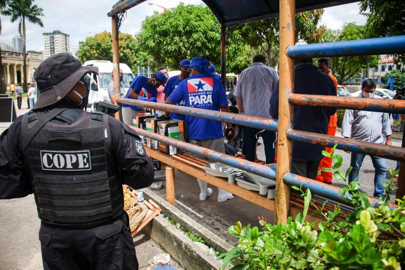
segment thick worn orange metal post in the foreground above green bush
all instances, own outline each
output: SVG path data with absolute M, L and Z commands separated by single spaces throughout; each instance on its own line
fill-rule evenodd
M 288 96 L 294 89 L 294 60 L 288 57 L 287 48 L 294 44 L 295 0 L 280 0 L 280 81 L 274 223 L 286 223 L 289 209 L 290 187 L 282 179 L 291 170 L 292 142 L 287 138 L 287 130 L 291 128 L 293 118 L 293 106 L 288 103 Z

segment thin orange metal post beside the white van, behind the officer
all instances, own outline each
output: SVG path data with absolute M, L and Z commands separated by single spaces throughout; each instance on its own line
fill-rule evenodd
M 120 87 L 119 87 L 119 42 L 118 42 L 118 16 L 114 15 L 111 17 L 112 22 L 112 67 L 113 67 L 113 74 L 114 74 L 114 97 L 115 97 L 115 105 L 117 104 L 117 99 L 121 95 Z M 118 112 L 115 112 L 115 119 L 119 120 Z

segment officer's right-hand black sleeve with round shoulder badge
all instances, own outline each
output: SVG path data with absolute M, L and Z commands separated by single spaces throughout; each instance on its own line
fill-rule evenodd
M 146 155 L 141 138 L 129 126 L 109 117 L 115 160 L 124 184 L 135 189 L 153 182 L 153 163 Z

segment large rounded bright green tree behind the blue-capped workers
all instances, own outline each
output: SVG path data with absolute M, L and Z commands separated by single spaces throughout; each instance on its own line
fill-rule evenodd
M 184 5 L 162 14 L 155 12 L 142 22 L 136 35 L 142 51 L 160 65 L 178 68 L 182 59 L 209 55 L 220 69 L 220 24 L 208 7 Z M 245 49 L 240 36 L 227 37 L 227 71 L 240 65 L 237 56 Z

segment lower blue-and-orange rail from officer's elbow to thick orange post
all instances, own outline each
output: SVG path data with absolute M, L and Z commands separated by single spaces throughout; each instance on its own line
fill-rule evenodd
M 260 165 L 255 162 L 247 161 L 244 159 L 235 158 L 235 157 L 226 155 L 225 153 L 217 152 L 217 151 L 214 151 L 214 150 L 211 150 L 208 148 L 190 144 L 185 141 L 179 141 L 176 139 L 172 139 L 172 138 L 169 138 L 169 137 L 157 134 L 157 133 L 146 131 L 144 129 L 139 129 L 139 128 L 135 128 L 135 127 L 131 127 L 131 128 L 136 130 L 136 132 L 139 135 L 151 138 L 151 139 L 159 141 L 161 143 L 170 144 L 176 148 L 180 148 L 182 150 L 194 153 L 195 155 L 205 157 L 210 160 L 215 160 L 217 162 L 221 162 L 221 163 L 230 165 L 232 167 L 239 168 L 241 170 L 248 171 L 248 172 L 275 180 L 276 169 L 274 169 L 274 168 L 270 168 L 270 167 Z

